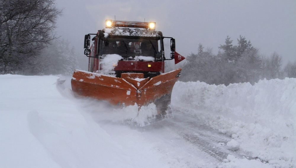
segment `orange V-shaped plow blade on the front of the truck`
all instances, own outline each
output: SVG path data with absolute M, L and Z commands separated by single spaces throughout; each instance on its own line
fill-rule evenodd
M 123 73 L 121 78 L 116 78 L 75 70 L 71 85 L 75 95 L 106 100 L 113 105 L 127 106 L 137 103 L 141 107 L 154 103 L 158 120 L 172 116 L 170 98 L 180 73 L 181 68 L 149 79 L 142 78 L 142 73 Z

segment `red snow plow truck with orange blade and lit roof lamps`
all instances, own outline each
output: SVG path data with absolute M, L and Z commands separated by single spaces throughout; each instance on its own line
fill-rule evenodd
M 155 22 L 106 20 L 106 28 L 84 38 L 88 71 L 75 70 L 75 96 L 92 97 L 113 105 L 154 103 L 155 120 L 170 118 L 170 99 L 181 68 L 165 73 L 165 60 L 185 59 L 175 51 L 175 39 L 155 31 Z M 91 38 L 91 36 L 93 36 Z M 165 55 L 164 39 L 170 51 Z M 92 41 L 92 44 L 91 44 Z M 168 59 L 166 57 L 168 57 Z

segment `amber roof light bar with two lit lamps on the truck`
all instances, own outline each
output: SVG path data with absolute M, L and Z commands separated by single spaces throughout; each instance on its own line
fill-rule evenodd
M 149 30 L 155 30 L 155 22 L 128 22 L 128 21 L 115 21 L 106 20 L 106 28 L 115 27 L 129 27 L 129 28 L 144 28 Z

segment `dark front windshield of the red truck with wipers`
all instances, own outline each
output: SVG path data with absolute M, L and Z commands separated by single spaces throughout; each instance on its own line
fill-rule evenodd
M 126 60 L 136 56 L 153 57 L 155 61 L 162 60 L 163 47 L 160 38 L 107 38 L 100 40 L 99 55 L 118 54 Z

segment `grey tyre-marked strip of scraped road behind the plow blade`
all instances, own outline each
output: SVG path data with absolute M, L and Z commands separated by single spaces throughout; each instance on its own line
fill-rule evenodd
M 184 116 L 179 113 L 174 114 L 175 117 L 173 119 L 163 122 L 170 126 L 171 129 L 175 130 L 184 140 L 217 161 L 223 161 L 229 154 L 237 158 L 251 158 L 251 153 L 249 152 L 242 150 L 231 151 L 227 149 L 226 144 L 231 140 L 231 137 L 200 124 L 200 120 L 197 118 Z

